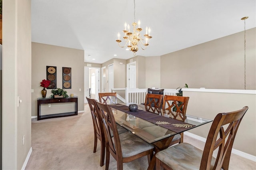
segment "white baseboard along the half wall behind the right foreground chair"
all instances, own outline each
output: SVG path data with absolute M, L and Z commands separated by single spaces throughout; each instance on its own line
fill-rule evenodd
M 202 142 L 206 142 L 206 138 L 203 138 L 203 137 L 198 136 L 196 134 L 193 134 L 193 133 L 190 133 L 190 132 L 184 132 L 184 134 L 187 135 L 187 136 L 190 136 L 192 138 L 195 138 L 197 140 L 200 140 Z M 256 156 L 253 156 L 251 154 L 247 154 L 247 153 L 242 152 L 240 150 L 232 149 L 231 153 L 236 154 L 238 156 L 242 156 L 243 158 L 246 158 L 246 159 L 249 159 L 249 160 L 252 160 L 252 161 L 256 162 Z

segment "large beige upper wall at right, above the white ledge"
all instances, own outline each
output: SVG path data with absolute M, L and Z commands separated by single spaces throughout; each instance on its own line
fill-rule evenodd
M 246 89 L 256 89 L 256 28 L 246 30 Z M 244 32 L 161 56 L 161 88 L 244 89 Z

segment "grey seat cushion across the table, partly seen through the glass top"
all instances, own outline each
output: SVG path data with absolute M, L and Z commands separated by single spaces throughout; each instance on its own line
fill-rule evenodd
M 143 128 L 143 130 L 145 130 L 146 132 L 150 132 L 151 134 L 154 134 L 156 138 L 160 138 L 161 136 L 164 136 L 168 131 L 168 129 L 162 128 L 159 126 L 145 127 Z M 180 134 L 175 134 L 172 141 L 178 140 L 180 138 L 181 138 Z

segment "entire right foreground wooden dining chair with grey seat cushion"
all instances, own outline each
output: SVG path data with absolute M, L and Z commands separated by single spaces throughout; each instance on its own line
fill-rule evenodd
M 191 144 L 181 143 L 158 152 L 156 170 L 160 170 L 161 166 L 166 170 L 228 170 L 236 132 L 247 110 L 246 106 L 238 111 L 216 115 L 203 151 Z M 212 154 L 216 149 L 218 154 L 214 158 Z

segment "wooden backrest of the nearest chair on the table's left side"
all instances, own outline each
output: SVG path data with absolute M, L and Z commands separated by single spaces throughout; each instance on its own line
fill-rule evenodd
M 99 108 L 99 114 L 102 116 L 110 153 L 112 156 L 114 155 L 116 159 L 122 158 L 120 139 L 112 110 L 109 105 L 97 101 L 96 104 Z M 113 132 L 113 136 L 111 136 L 111 131 Z

